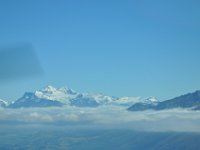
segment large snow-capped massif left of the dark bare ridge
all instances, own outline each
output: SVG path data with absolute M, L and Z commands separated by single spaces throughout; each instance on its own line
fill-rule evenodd
M 97 107 L 104 105 L 131 106 L 140 101 L 139 97 L 115 98 L 103 94 L 79 93 L 72 89 L 47 86 L 35 92 L 26 92 L 20 99 L 9 105 L 18 107 L 48 107 L 70 105 L 76 107 Z

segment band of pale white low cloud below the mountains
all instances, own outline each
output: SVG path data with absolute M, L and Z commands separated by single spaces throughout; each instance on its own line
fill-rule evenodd
M 124 107 L 0 109 L 0 124 L 199 132 L 200 111 L 129 112 Z

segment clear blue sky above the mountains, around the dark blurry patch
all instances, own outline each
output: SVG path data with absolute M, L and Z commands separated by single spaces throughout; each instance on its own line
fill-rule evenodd
M 197 0 L 1 0 L 0 45 L 31 43 L 45 73 L 1 84 L 0 98 L 49 84 L 161 100 L 200 89 L 199 8 Z

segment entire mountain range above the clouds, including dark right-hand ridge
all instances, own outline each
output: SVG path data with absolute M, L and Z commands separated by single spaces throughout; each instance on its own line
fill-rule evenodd
M 164 110 L 173 108 L 187 108 L 200 110 L 200 91 L 188 93 L 170 100 L 159 101 L 155 97 L 142 99 L 140 97 L 114 97 L 103 94 L 79 93 L 70 88 L 55 88 L 47 86 L 35 92 L 25 94 L 8 103 L 0 99 L 3 108 L 30 107 L 99 107 L 124 106 L 129 111 Z

